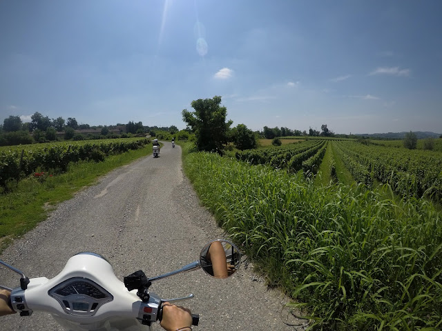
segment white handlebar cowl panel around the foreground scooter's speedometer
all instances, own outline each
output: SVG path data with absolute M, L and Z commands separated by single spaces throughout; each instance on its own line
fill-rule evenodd
M 77 294 L 69 294 L 65 301 L 54 297 L 62 283 L 69 283 L 70 279 L 77 282 L 92 281 L 97 288 L 102 288 L 107 292 L 106 302 L 97 304 L 97 308 L 90 310 L 90 301 L 93 299 L 87 294 L 80 294 L 75 289 L 77 285 L 67 285 L 66 288 L 75 290 Z M 106 285 L 105 285 L 106 284 Z M 86 284 L 88 285 L 88 284 Z M 21 294 L 19 288 L 12 292 L 12 304 L 19 295 L 24 297 L 24 301 L 30 310 L 46 311 L 68 330 L 146 330 L 146 326 L 137 321 L 136 317 L 140 313 L 142 301 L 137 297 L 136 290 L 129 292 L 124 283 L 115 277 L 112 265 L 103 257 L 94 253 L 81 253 L 71 257 L 65 267 L 57 276 L 52 279 L 44 277 L 30 279 L 26 296 Z M 79 289 L 80 290 L 80 289 Z M 49 295 L 48 295 L 49 294 Z M 100 295 L 101 295 L 100 294 Z M 108 295 L 110 294 L 110 295 Z M 59 301 L 60 300 L 60 301 Z M 64 305 L 66 302 L 69 308 Z M 75 310 L 77 307 L 88 306 Z M 115 319 L 118 316 L 118 319 Z

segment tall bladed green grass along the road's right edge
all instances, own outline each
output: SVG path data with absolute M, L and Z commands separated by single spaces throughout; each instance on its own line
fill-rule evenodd
M 442 328 L 442 218 L 430 203 L 394 202 L 364 185 L 318 187 L 217 154 L 190 153 L 184 168 L 311 328 Z

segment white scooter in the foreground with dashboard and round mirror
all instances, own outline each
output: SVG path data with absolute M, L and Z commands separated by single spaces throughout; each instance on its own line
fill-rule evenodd
M 222 246 L 220 246 L 220 244 Z M 218 264 L 208 254 L 211 247 L 220 246 L 226 254 Z M 221 250 L 221 252 L 222 252 Z M 0 264 L 21 275 L 20 287 L 9 289 L 12 308 L 28 317 L 34 311 L 44 311 L 66 330 L 86 331 L 146 331 L 162 319 L 162 303 L 193 298 L 193 294 L 176 299 L 161 299 L 149 292 L 153 281 L 173 274 L 202 268 L 215 277 L 214 270 L 222 265 L 230 276 L 241 263 L 241 254 L 236 245 L 225 240 L 208 243 L 200 254 L 200 260 L 185 265 L 179 270 L 147 278 L 141 270 L 117 279 L 111 263 L 93 252 L 81 252 L 71 257 L 66 266 L 52 279 L 46 277 L 28 279 L 23 272 L 0 261 Z M 216 277 L 216 278 L 226 278 Z M 193 314 L 193 325 L 198 325 L 199 316 Z

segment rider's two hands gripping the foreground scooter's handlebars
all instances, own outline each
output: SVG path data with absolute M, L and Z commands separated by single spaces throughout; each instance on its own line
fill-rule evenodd
M 7 314 L 15 314 L 10 304 L 9 290 L 0 289 L 0 316 Z M 169 302 L 164 302 L 163 305 L 163 319 L 160 325 L 166 331 L 191 331 L 192 316 L 189 309 L 181 306 L 172 305 Z

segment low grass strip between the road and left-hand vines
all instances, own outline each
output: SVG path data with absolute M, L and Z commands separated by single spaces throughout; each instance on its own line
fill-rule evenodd
M 68 200 L 107 172 L 152 154 L 152 147 L 130 150 L 103 162 L 71 163 L 68 171 L 51 176 L 28 177 L 14 184 L 12 192 L 0 195 L 0 252 L 13 238 L 31 230 L 48 217 L 57 203 Z

